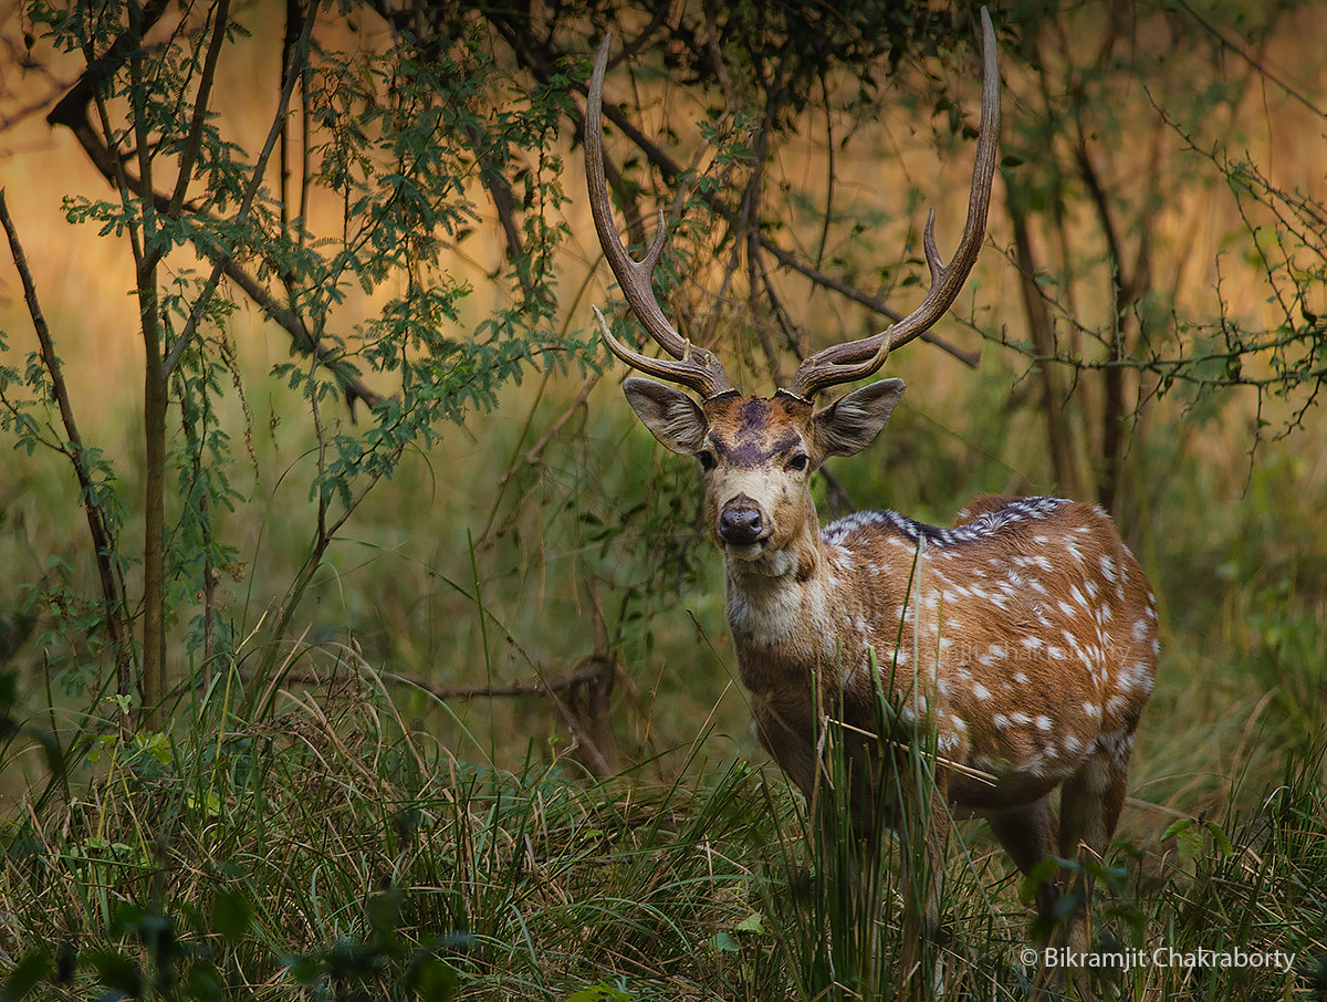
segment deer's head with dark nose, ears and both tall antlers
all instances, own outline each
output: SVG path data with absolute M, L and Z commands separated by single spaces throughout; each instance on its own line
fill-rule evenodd
M 667 449 L 699 459 L 705 474 L 710 531 L 725 553 L 752 571 L 783 575 L 804 569 L 809 553 L 799 548 L 804 531 L 816 530 L 807 487 L 811 474 L 832 455 L 852 455 L 874 441 L 904 392 L 901 380 L 853 390 L 816 410 L 820 390 L 874 374 L 894 348 L 934 325 L 958 296 L 977 261 L 986 231 L 999 133 L 999 70 L 995 35 L 982 8 L 985 65 L 982 115 L 973 170 L 967 222 L 958 250 L 945 264 L 936 248 L 936 216 L 926 219 L 924 248 L 932 285 L 922 303 L 893 326 L 825 348 L 804 360 L 787 388 L 772 397 L 742 395 L 731 388 L 723 364 L 693 345 L 667 321 L 654 296 L 654 267 L 667 240 L 660 212 L 654 239 L 640 261 L 622 246 L 613 224 L 604 175 L 602 94 L 610 38 L 594 61 L 585 113 L 585 173 L 600 246 L 632 311 L 666 357 L 637 352 L 613 336 L 596 308 L 604 340 L 633 369 L 686 386 L 686 393 L 654 380 L 628 378 L 632 409 Z

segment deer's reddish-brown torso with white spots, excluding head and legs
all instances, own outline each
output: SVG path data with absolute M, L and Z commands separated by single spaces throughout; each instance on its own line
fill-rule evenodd
M 877 726 L 881 691 L 904 731 L 934 735 L 955 766 L 950 795 L 973 810 L 1038 799 L 1099 746 L 1128 756 L 1156 670 L 1156 604 L 1099 507 L 985 495 L 953 528 L 864 511 L 820 545 L 821 572 L 779 609 L 730 567 L 743 681 L 780 763 L 807 758 L 817 713 Z M 805 618 L 790 629 L 794 609 Z

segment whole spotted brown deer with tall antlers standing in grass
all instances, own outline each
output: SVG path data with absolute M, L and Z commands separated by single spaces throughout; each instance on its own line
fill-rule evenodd
M 893 511 L 860 511 L 824 528 L 816 516 L 811 475 L 829 457 L 871 445 L 904 384 L 873 382 L 819 410 L 815 395 L 872 376 L 890 350 L 936 324 L 977 260 L 999 129 L 999 70 L 985 9 L 982 28 L 977 163 L 953 259 L 945 264 L 936 250 L 932 212 L 924 234 L 932 287 L 921 305 L 873 337 L 805 358 L 790 385 L 768 398 L 734 390 L 718 357 L 665 317 L 653 291 L 667 235 L 662 214 L 642 260 L 617 236 L 602 149 L 608 38 L 585 115 L 598 240 L 629 307 L 665 357 L 632 349 L 594 312 L 621 361 L 701 397 L 697 402 L 640 377 L 624 382 L 628 402 L 654 437 L 699 461 L 705 520 L 723 552 L 727 621 L 760 743 L 809 800 L 824 783 L 824 729 L 872 734 L 881 693 L 897 711 L 886 742 L 861 742 L 873 751 L 857 770 L 851 803 L 869 816 L 880 798 L 893 796 L 904 803 L 885 806 L 890 827 L 909 814 L 930 822 L 926 876 L 914 884 L 921 892 L 905 901 L 905 967 L 918 940 L 937 933 L 950 818 L 986 818 L 1024 873 L 1055 853 L 1076 859 L 1080 847 L 1107 851 L 1157 660 L 1148 579 L 1096 506 L 982 495 L 951 528 Z M 929 742 L 934 774 L 929 786 L 892 795 L 880 788 L 880 759 L 900 742 Z M 863 831 L 869 829 L 864 822 Z M 906 853 L 904 860 L 909 865 Z M 1054 883 L 1038 892 L 1047 922 L 1058 895 Z M 1079 938 L 1082 920 L 1075 921 Z

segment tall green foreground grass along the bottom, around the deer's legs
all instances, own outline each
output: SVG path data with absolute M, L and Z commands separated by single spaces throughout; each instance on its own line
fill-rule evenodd
M 162 733 L 107 727 L 61 754 L 49 733 L 11 726 L 5 764 L 46 747 L 52 770 L 4 819 L 4 998 L 855 999 L 902 986 L 897 852 L 863 954 L 849 941 L 861 929 L 835 920 L 849 904 L 841 871 L 776 772 L 702 763 L 705 734 L 679 750 L 685 782 L 637 768 L 589 783 L 535 746 L 515 768 L 467 762 L 353 653 L 309 658 L 326 683 L 276 680 L 248 715 L 260 703 L 245 689 L 267 686 L 220 673 Z M 1327 987 L 1322 770 L 1322 742 L 1304 746 L 1257 807 L 1116 845 L 1096 873 L 1093 949 L 1132 962 L 1104 973 L 1101 997 Z M 1024 997 L 1036 964 L 1023 884 L 978 827 L 955 832 L 933 997 Z M 1294 961 L 1220 966 L 1277 952 Z

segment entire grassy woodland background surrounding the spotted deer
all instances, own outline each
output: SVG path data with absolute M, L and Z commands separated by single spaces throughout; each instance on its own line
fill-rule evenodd
M 1162 656 L 1097 942 L 1295 961 L 1104 990 L 1322 997 L 1327 5 L 991 15 L 982 259 L 821 515 L 1105 506 Z M 662 210 L 674 322 L 772 388 L 921 299 L 928 206 L 957 240 L 974 25 L 5 5 L 7 997 L 892 995 L 894 909 L 863 949 L 817 885 L 697 472 L 592 329 L 633 328 L 579 130 L 612 31 L 626 239 Z M 1028 888 L 959 841 L 949 994 L 1022 997 Z

